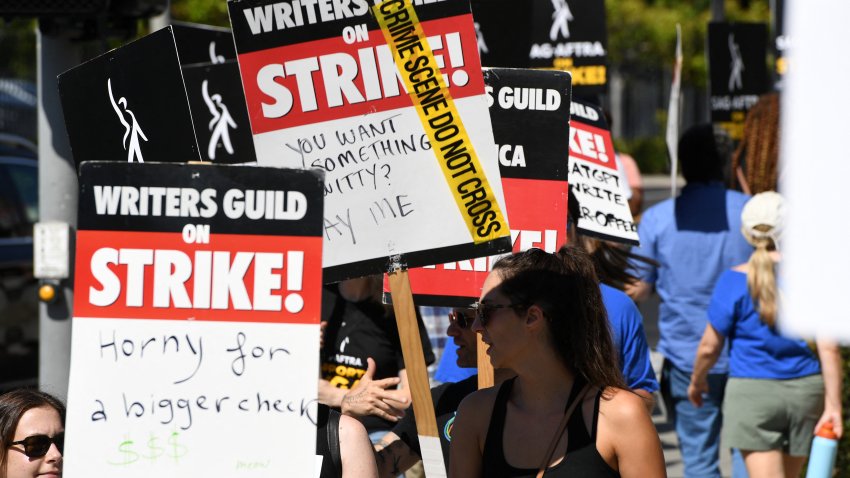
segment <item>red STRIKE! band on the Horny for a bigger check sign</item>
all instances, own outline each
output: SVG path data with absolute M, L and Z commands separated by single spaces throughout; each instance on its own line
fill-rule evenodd
M 321 237 L 194 231 L 79 231 L 74 317 L 319 323 Z

